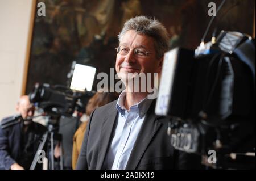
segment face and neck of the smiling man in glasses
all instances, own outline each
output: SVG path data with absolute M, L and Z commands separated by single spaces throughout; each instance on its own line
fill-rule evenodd
M 129 27 L 132 28 L 133 25 L 130 24 Z M 133 103 L 138 103 L 145 98 L 145 95 L 152 93 L 150 91 L 154 87 L 154 73 L 160 73 L 163 63 L 163 56 L 156 54 L 154 39 L 138 33 L 133 29 L 129 30 L 129 28 L 120 33 L 120 44 L 117 48 L 118 54 L 115 64 L 118 77 L 126 85 L 126 95 L 133 95 L 136 98 L 127 99 L 133 100 Z M 167 33 L 164 36 L 167 36 Z M 142 89 L 143 86 L 145 89 Z M 133 103 L 130 103 L 130 106 L 134 105 Z M 129 109 L 129 105 L 126 108 Z

